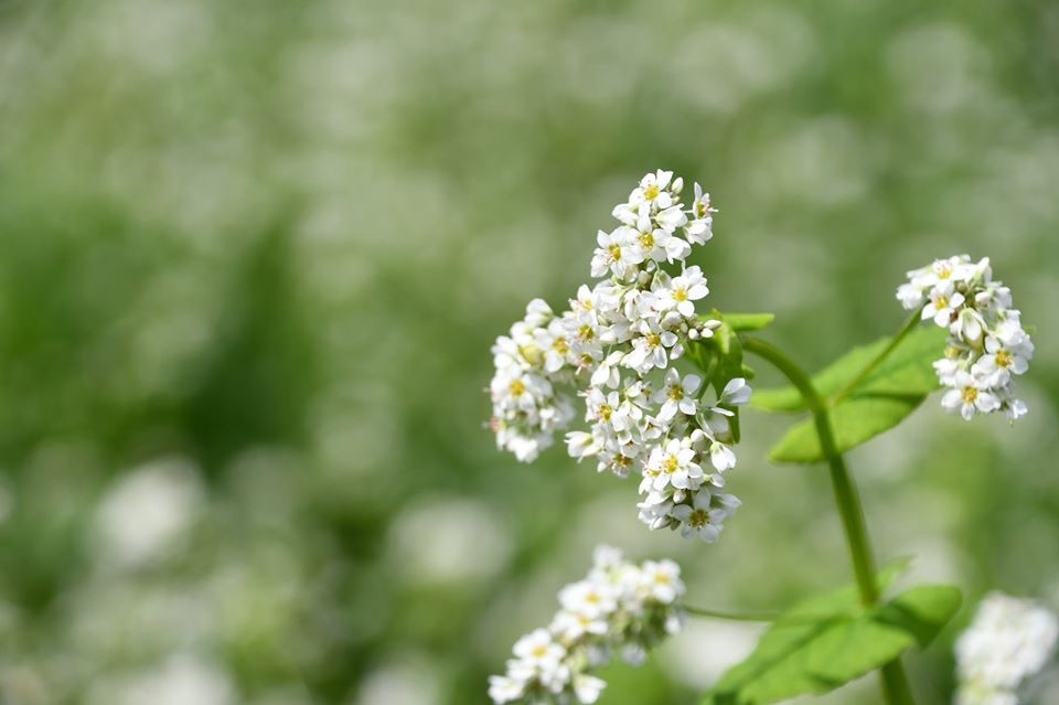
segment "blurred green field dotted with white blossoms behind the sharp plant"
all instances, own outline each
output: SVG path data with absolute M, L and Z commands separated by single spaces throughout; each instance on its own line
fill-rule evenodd
M 897 329 L 906 269 L 993 257 L 1031 414 L 931 399 L 851 463 L 910 579 L 1059 606 L 1057 75 L 1031 0 L 0 0 L 0 702 L 484 703 L 601 542 L 705 607 L 847 581 L 782 418 L 715 546 L 483 427 L 492 340 L 660 167 L 720 209 L 707 301 L 812 366 Z M 694 703 L 755 634 L 696 621 L 602 703 Z

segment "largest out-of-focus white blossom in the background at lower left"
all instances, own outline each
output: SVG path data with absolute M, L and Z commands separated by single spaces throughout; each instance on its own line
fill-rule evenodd
M 194 524 L 202 501 L 199 472 L 181 458 L 118 477 L 96 515 L 104 560 L 136 567 L 164 557 Z

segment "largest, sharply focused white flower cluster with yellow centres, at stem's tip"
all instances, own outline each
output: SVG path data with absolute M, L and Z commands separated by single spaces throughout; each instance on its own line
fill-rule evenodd
M 704 403 L 704 380 L 671 366 L 687 341 L 719 325 L 699 319 L 695 302 L 709 289 L 699 267 L 685 264 L 692 245 L 713 236 L 715 211 L 698 184 L 685 210 L 683 186 L 670 171 L 641 179 L 613 210 L 619 225 L 597 235 L 595 285 L 582 285 L 560 314 L 531 301 L 496 340 L 491 427 L 500 448 L 532 461 L 569 426 L 573 394 L 563 389 L 577 389 L 590 428 L 567 434 L 569 453 L 595 457 L 600 471 L 641 476 L 640 519 L 651 528 L 712 542 L 739 505 L 719 489 L 736 464 L 728 419 L 750 387 L 730 380 L 716 403 Z

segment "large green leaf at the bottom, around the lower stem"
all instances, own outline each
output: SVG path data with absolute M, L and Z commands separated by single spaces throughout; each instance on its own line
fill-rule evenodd
M 841 597 L 839 597 L 841 596 Z M 927 645 L 955 615 L 960 591 L 951 586 L 911 588 L 858 613 L 819 619 L 806 605 L 846 605 L 852 589 L 800 605 L 761 637 L 757 649 L 730 669 L 706 705 L 766 705 L 803 694 L 823 694 L 889 663 L 912 645 Z

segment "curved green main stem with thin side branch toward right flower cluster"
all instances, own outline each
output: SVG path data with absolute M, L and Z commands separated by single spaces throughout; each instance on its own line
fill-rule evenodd
M 908 334 L 909 330 L 911 330 L 911 327 L 906 324 L 901 333 L 887 348 L 887 351 L 884 351 L 885 354 L 876 357 L 859 378 L 867 376 L 867 373 L 881 362 L 886 354 L 889 354 L 889 351 L 897 346 L 897 343 Z M 856 485 L 854 485 L 849 471 L 846 469 L 846 462 L 835 444 L 828 406 L 820 396 L 816 387 L 813 386 L 813 381 L 809 374 L 780 349 L 756 338 L 744 339 L 742 345 L 744 350 L 771 363 L 790 380 L 791 384 L 801 393 L 802 398 L 805 399 L 805 406 L 813 415 L 816 436 L 820 438 L 820 448 L 824 458 L 827 459 L 827 467 L 831 471 L 831 485 L 835 494 L 835 503 L 838 506 L 838 514 L 842 517 L 842 527 L 846 536 L 846 545 L 849 548 L 849 558 L 853 562 L 853 573 L 856 576 L 857 588 L 860 592 L 860 602 L 866 608 L 873 607 L 879 600 L 879 588 L 875 580 L 875 558 L 871 555 L 871 547 L 868 542 L 868 527 Z M 853 386 L 855 385 L 851 385 L 851 388 Z M 881 679 L 882 693 L 887 703 L 890 705 L 912 705 L 911 688 L 899 660 L 894 660 L 882 666 Z

